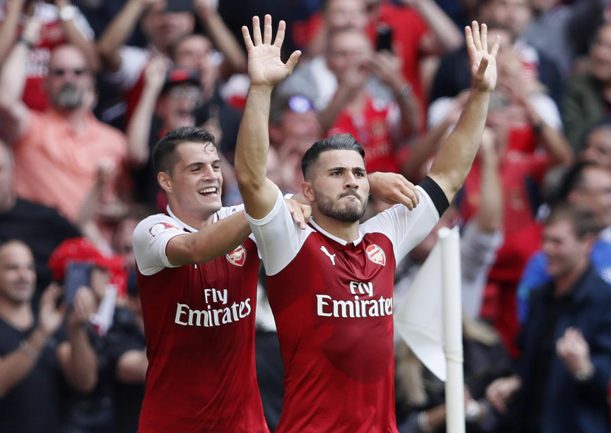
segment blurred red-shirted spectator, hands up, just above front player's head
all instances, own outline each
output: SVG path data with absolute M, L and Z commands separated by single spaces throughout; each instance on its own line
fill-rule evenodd
M 323 132 L 351 133 L 365 148 L 367 171 L 397 173 L 397 145 L 419 124 L 419 107 L 401 76 L 400 61 L 390 52 L 375 53 L 365 34 L 355 29 L 338 30 L 328 44 L 327 65 L 337 76 L 338 88 L 320 113 Z M 395 102 L 382 104 L 368 94 L 365 82 L 373 74 L 392 90 Z

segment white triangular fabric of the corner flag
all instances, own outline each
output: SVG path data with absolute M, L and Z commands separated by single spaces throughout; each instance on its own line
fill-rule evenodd
M 431 373 L 445 381 L 442 269 L 441 243 L 437 242 L 393 316 L 395 332 Z

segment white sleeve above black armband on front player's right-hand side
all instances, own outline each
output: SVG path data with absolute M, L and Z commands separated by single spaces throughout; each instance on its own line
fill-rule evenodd
M 414 210 L 395 204 L 360 226 L 363 235 L 382 233 L 390 239 L 397 264 L 414 246 L 422 242 L 439 221 L 439 212 L 431 196 L 420 185 L 416 189 L 420 195 L 420 204 Z

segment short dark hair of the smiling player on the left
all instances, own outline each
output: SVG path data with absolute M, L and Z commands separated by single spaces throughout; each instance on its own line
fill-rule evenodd
M 183 126 L 174 129 L 164 135 L 153 149 L 153 165 L 155 173 L 172 173 L 172 169 L 178 162 L 176 148 L 181 143 L 202 143 L 202 145 L 213 146 L 214 135 L 197 126 Z

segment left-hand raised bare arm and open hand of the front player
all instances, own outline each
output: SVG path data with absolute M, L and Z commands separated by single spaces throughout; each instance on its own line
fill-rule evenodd
M 257 220 L 274 207 L 277 187 L 267 178 L 266 161 L 269 148 L 269 102 L 274 85 L 289 76 L 301 52 L 291 54 L 287 63 L 280 60 L 286 24 L 280 21 L 276 40 L 272 40 L 271 16 L 265 15 L 263 37 L 258 16 L 252 18 L 253 38 L 248 27 L 242 27 L 248 51 L 248 75 L 251 87 L 238 131 L 235 152 L 235 173 L 244 199 L 246 212 Z

